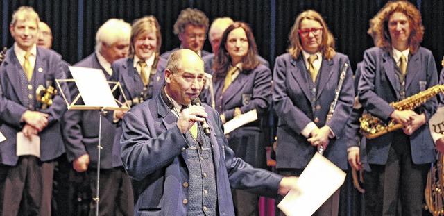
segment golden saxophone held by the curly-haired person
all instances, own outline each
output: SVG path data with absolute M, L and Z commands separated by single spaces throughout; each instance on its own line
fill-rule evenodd
M 414 94 L 411 97 L 407 97 L 402 101 L 392 102 L 390 106 L 393 106 L 396 110 L 413 110 L 422 103 L 425 103 L 428 99 L 435 97 L 439 92 L 444 92 L 444 85 L 435 85 L 425 91 Z M 371 115 L 370 113 L 363 114 L 359 118 L 360 132 L 367 139 L 377 138 L 380 135 L 384 135 L 388 132 L 398 130 L 402 128 L 402 124 L 397 124 L 394 119 L 391 119 L 388 123 L 385 123 L 378 117 Z

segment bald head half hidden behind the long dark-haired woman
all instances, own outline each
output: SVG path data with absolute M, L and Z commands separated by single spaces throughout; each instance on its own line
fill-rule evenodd
M 231 24 L 233 24 L 233 20 L 230 17 L 217 18 L 212 22 L 210 31 L 208 31 L 208 38 L 210 39 L 211 49 L 215 56 L 217 56 L 217 51 L 221 45 L 223 32 Z

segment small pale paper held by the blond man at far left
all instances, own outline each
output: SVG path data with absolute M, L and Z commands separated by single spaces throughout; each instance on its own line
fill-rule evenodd
M 17 133 L 17 156 L 36 156 L 40 158 L 40 137 L 32 135 L 31 140 L 22 132 Z

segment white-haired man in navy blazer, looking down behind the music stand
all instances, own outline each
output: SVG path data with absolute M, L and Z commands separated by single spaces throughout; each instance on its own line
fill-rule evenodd
M 77 63 L 76 67 L 101 69 L 108 81 L 112 81 L 111 65 L 128 55 L 131 26 L 122 19 L 109 19 L 96 33 L 96 51 Z M 78 94 L 74 82 L 69 85 L 71 97 Z M 76 105 L 83 105 L 80 98 Z M 103 118 L 99 131 L 99 110 L 68 110 L 65 113 L 65 140 L 67 159 L 77 172 L 87 172 L 87 181 L 94 197 L 97 187 L 97 163 L 99 133 L 101 133 L 101 160 L 99 183 L 99 213 L 101 215 L 132 215 L 133 190 L 130 177 L 123 169 L 120 145 L 114 144 L 116 124 Z M 91 199 L 89 212 L 96 212 Z

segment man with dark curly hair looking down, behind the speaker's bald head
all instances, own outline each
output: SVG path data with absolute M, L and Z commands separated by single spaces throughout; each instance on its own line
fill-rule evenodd
M 205 13 L 196 8 L 187 8 L 180 11 L 180 15 L 174 24 L 174 34 L 178 35 L 180 47 L 162 53 L 160 57 L 168 59 L 178 49 L 191 49 L 200 57 L 210 54 L 203 50 L 203 43 L 207 37 L 209 21 Z

